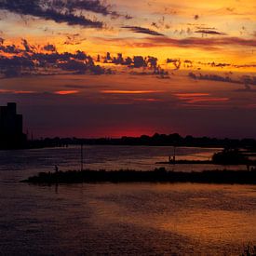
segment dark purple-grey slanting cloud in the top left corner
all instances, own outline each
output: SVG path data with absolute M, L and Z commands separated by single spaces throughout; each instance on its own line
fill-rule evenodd
M 74 10 L 78 4 L 83 6 L 83 9 L 87 9 L 88 7 L 88 10 L 94 12 L 100 12 L 101 8 L 103 8 L 99 6 L 99 1 L 0 0 L 0 9 L 20 15 L 31 15 L 44 20 L 54 20 L 57 23 L 65 22 L 69 25 L 102 28 L 103 23 L 101 21 L 89 20 L 82 15 L 76 15 Z

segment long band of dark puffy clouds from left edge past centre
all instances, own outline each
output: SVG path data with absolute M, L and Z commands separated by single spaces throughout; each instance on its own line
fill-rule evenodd
M 84 51 L 59 53 L 52 44 L 34 47 L 25 39 L 21 40 L 21 45 L 22 47 L 0 45 L 0 74 L 5 77 L 63 74 L 63 72 L 65 72 L 64 74 L 114 74 L 111 69 L 96 65 L 94 60 Z M 98 55 L 97 61 L 123 65 L 128 68 L 142 68 L 148 70 L 150 74 L 160 76 L 168 75 L 168 72 L 157 63 L 157 58 L 153 56 L 124 58 L 122 53 L 112 56 L 107 52 L 105 57 Z

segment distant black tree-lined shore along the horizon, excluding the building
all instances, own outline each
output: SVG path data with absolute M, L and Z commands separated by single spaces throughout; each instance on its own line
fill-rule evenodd
M 122 138 L 99 138 L 99 139 L 78 139 L 78 138 L 45 138 L 28 141 L 29 148 L 43 147 L 65 147 L 68 145 L 145 145 L 145 146 L 187 146 L 187 147 L 212 147 L 212 148 L 245 148 L 251 154 L 256 152 L 256 140 L 254 139 L 217 139 L 209 137 L 182 137 L 178 133 L 158 134 L 153 136 L 141 135 L 141 137 Z

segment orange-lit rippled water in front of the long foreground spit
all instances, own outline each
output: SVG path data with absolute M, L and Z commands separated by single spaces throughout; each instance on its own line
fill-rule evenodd
M 232 255 L 256 242 L 253 186 L 7 183 L 0 203 L 10 255 Z

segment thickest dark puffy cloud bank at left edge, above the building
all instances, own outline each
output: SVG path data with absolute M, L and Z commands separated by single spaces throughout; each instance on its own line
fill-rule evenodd
M 54 45 L 40 47 L 47 53 L 37 52 L 25 39 L 21 41 L 24 49 L 15 45 L 0 46 L 0 74 L 16 77 L 31 74 L 58 74 L 64 71 L 72 74 L 104 74 L 106 71 L 95 65 L 92 58 L 83 51 L 59 53 Z M 6 56 L 8 53 L 11 56 Z M 109 73 L 109 72 L 108 72 Z

